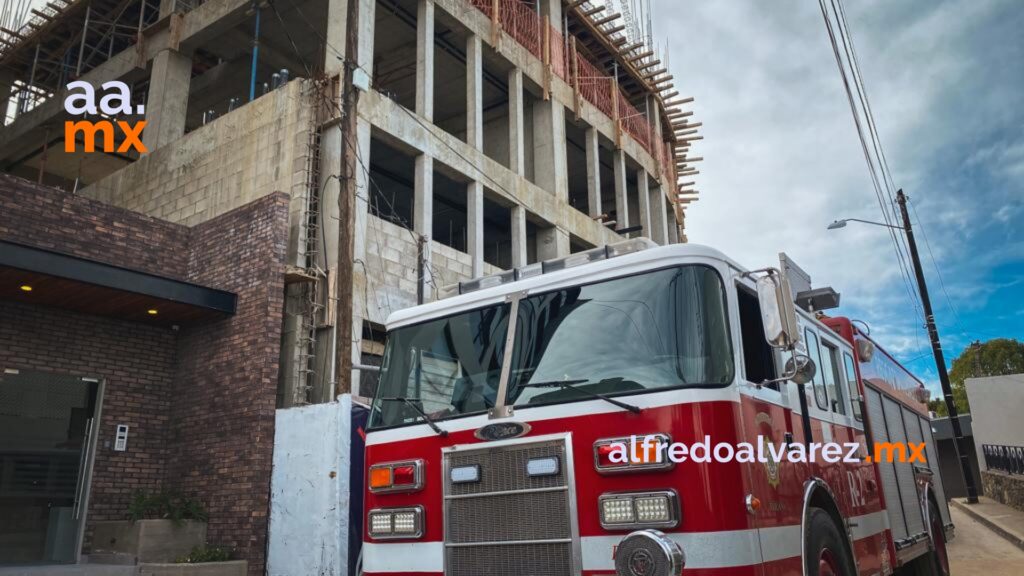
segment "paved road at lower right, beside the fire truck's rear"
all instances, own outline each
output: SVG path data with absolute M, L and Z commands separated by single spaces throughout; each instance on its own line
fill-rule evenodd
M 1024 573 L 1024 550 L 953 506 L 949 506 L 949 515 L 956 525 L 956 537 L 947 548 L 952 576 L 1020 576 Z

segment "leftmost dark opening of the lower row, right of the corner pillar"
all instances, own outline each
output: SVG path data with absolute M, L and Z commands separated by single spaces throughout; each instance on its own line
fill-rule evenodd
M 413 228 L 416 159 L 378 138 L 370 140 L 370 213 Z

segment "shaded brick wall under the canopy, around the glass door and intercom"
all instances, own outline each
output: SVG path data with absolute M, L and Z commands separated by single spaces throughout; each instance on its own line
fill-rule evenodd
M 162 486 L 174 349 L 165 328 L 0 300 L 0 368 L 103 380 L 90 526 L 124 520 L 134 491 Z M 125 452 L 112 448 L 118 424 L 130 426 Z

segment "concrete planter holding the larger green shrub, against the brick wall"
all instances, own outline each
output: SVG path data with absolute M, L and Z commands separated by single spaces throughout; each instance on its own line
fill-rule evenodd
M 127 556 L 136 562 L 174 562 L 206 543 L 206 523 L 185 520 L 97 522 L 92 532 L 94 554 Z M 205 574 L 205 573 L 204 573 Z

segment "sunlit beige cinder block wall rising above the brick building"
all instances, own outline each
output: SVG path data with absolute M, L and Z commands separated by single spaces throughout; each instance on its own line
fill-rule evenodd
M 274 192 L 305 213 L 311 83 L 297 79 L 88 186 L 82 196 L 193 227 Z M 299 235 L 290 255 L 295 257 Z

